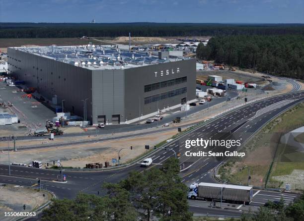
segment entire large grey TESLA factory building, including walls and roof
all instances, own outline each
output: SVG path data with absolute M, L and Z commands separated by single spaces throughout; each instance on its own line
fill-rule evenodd
M 110 46 L 8 48 L 8 71 L 93 124 L 131 123 L 195 99 L 195 59 Z M 96 121 L 97 119 L 97 121 Z

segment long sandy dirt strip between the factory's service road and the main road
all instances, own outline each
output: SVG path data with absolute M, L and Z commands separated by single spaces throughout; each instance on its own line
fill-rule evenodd
M 32 151 L 10 152 L 10 162 L 29 164 L 33 160 L 41 161 L 43 164 L 60 160 L 63 166 L 84 167 L 89 163 L 111 162 L 112 158 L 118 158 L 118 151 L 121 148 L 133 147 L 133 150 L 125 149 L 120 152 L 121 161 L 125 163 L 146 152 L 145 145 L 154 145 L 167 140 L 176 134 L 176 131 L 169 131 L 157 135 L 136 137 L 124 140 L 94 143 L 71 147 L 49 148 Z M 155 139 L 157 136 L 157 139 Z M 7 164 L 8 153 L 0 153 L 0 164 Z

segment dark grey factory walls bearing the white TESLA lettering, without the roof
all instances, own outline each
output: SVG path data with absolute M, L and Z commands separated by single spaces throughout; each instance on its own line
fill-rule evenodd
M 195 99 L 195 59 L 125 68 L 88 68 L 8 48 L 8 72 L 93 124 L 131 123 Z

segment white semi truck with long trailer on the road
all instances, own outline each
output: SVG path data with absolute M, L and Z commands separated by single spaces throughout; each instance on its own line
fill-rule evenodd
M 223 190 L 222 190 L 223 188 Z M 188 199 L 221 200 L 231 203 L 249 204 L 253 197 L 252 186 L 238 186 L 221 183 L 193 183 L 189 186 Z

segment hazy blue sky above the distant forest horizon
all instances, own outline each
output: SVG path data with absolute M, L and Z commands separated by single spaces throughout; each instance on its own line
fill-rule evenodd
M 304 0 L 0 0 L 0 22 L 304 23 Z

